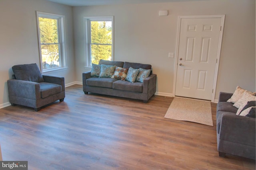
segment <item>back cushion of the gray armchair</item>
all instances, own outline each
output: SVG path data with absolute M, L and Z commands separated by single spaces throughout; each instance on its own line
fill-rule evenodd
M 34 64 L 20 64 L 12 66 L 12 71 L 17 80 L 25 80 L 30 82 L 43 82 L 44 78 L 37 66 Z

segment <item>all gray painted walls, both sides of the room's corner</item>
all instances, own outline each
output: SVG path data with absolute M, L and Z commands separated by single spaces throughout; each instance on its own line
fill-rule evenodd
M 166 17 L 159 10 L 169 10 Z M 0 0 L 0 108 L 8 106 L 7 80 L 15 64 L 40 65 L 36 11 L 66 17 L 68 69 L 66 84 L 82 82 L 84 67 L 84 16 L 114 16 L 114 60 L 152 64 L 158 74 L 157 93 L 173 94 L 178 16 L 226 14 L 218 93 L 236 86 L 255 91 L 255 0 L 206 0 L 156 4 L 70 7 L 46 0 Z M 74 41 L 73 41 L 74 38 Z

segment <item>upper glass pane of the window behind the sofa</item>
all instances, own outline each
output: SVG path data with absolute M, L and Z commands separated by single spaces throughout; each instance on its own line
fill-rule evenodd
M 91 21 L 91 43 L 112 44 L 112 21 Z

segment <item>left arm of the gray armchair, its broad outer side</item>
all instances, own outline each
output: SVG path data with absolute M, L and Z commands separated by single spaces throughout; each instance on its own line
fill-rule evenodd
M 7 80 L 9 96 L 38 100 L 41 98 L 40 84 L 24 80 Z

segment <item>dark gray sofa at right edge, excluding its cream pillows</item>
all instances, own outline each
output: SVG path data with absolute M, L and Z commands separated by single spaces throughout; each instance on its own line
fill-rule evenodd
M 255 159 L 255 118 L 236 115 L 238 108 L 226 102 L 232 93 L 220 92 L 216 113 L 219 156 L 226 153 Z

